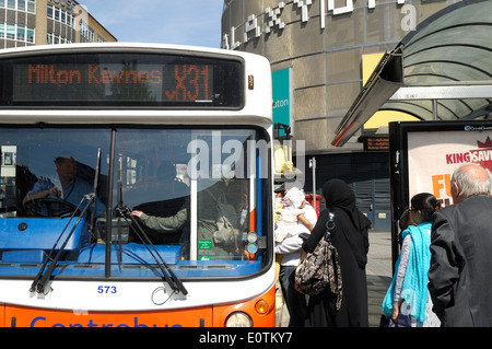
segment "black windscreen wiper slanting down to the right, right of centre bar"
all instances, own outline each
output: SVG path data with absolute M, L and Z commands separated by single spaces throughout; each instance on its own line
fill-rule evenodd
M 185 295 L 188 294 L 188 290 L 186 290 L 181 280 L 179 280 L 179 278 L 173 272 L 173 270 L 169 268 L 169 266 L 164 261 L 161 254 L 157 252 L 157 249 L 155 249 L 155 246 L 152 244 L 152 242 L 150 241 L 147 233 L 143 231 L 140 223 L 137 221 L 137 219 L 133 216 L 131 216 L 130 209 L 128 207 L 124 206 L 124 207 L 118 207 L 116 210 L 119 212 L 119 214 L 122 218 L 125 218 L 125 220 L 127 220 L 127 222 L 128 222 L 128 218 L 130 218 L 133 225 L 137 226 L 137 229 L 134 230 L 134 232 L 137 233 L 137 236 L 140 239 L 142 244 L 145 246 L 145 248 L 149 251 L 151 256 L 154 258 L 155 263 L 157 264 L 159 268 L 161 269 L 161 271 L 164 276 L 164 279 L 169 284 L 169 287 L 173 289 L 173 291 L 181 292 Z M 149 245 L 152 247 L 155 255 L 159 256 L 159 259 L 154 255 L 154 253 L 151 251 Z

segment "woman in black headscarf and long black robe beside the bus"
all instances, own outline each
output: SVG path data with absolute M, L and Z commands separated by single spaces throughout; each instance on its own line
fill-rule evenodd
M 341 179 L 330 179 L 323 186 L 324 210 L 303 249 L 311 253 L 316 248 L 326 232 L 328 212 L 335 213 L 335 230 L 331 241 L 338 251 L 342 275 L 342 303 L 336 311 L 336 295 L 329 290 L 309 296 L 306 326 L 368 326 L 367 283 L 365 265 L 367 263 L 371 221 L 355 206 L 355 196 Z

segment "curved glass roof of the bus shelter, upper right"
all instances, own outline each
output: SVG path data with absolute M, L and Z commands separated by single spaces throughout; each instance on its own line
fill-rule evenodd
M 336 131 L 342 146 L 374 114 L 398 110 L 422 120 L 482 117 L 492 110 L 492 1 L 465 0 L 435 13 L 379 63 Z M 398 63 L 388 65 L 398 57 Z M 401 71 L 398 71 L 400 70 Z M 384 80 L 382 95 L 368 89 Z M 379 85 L 385 83 L 378 82 Z M 391 95 L 388 95 L 393 92 Z M 367 112 L 360 105 L 373 104 Z M 368 102 L 368 101 L 374 102 Z M 377 105 L 375 105 L 377 104 Z M 371 113 L 371 115 L 368 115 Z M 351 128 L 351 129 L 349 129 Z

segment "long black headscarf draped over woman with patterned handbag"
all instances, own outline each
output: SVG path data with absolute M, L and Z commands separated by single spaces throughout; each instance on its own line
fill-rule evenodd
M 323 186 L 327 209 L 335 212 L 335 233 L 343 233 L 360 267 L 367 263 L 367 229 L 371 221 L 355 206 L 355 195 L 341 179 L 330 179 Z

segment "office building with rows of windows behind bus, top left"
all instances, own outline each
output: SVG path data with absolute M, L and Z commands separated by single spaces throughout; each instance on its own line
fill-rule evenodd
M 0 0 L 0 48 L 116 40 L 74 0 Z

